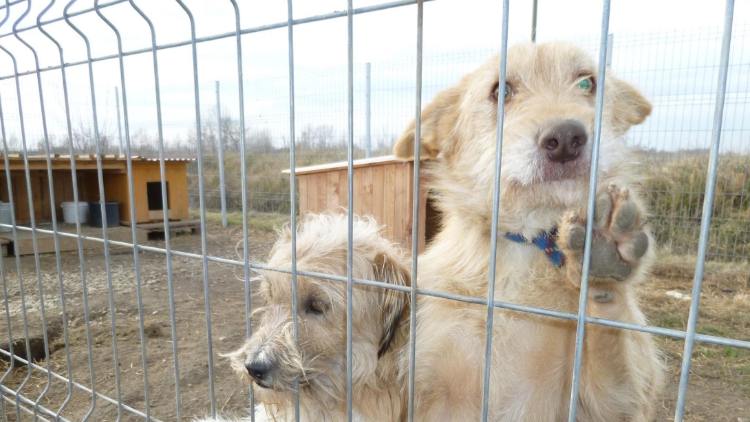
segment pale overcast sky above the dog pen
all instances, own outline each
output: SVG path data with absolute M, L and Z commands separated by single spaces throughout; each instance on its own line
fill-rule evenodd
M 106 4 L 106 2 L 103 2 Z M 196 20 L 198 37 L 233 31 L 231 3 L 186 0 Z M 283 1 L 240 0 L 242 27 L 253 28 L 287 20 Z M 379 2 L 355 2 L 355 8 Z M 31 13 L 18 23 L 30 26 L 47 2 L 34 2 Z M 54 5 L 43 20 L 62 16 L 65 2 Z M 158 44 L 190 39 L 187 15 L 171 0 L 137 1 L 156 28 Z M 91 8 L 92 1 L 79 0 L 72 11 Z M 298 1 L 296 19 L 346 10 L 342 1 Z M 10 32 L 26 10 L 26 4 L 10 8 L 10 19 L 0 35 Z M 5 10 L 0 10 L 0 18 Z M 148 26 L 127 2 L 103 9 L 103 14 L 121 31 L 125 51 L 150 46 Z M 750 79 L 750 39 L 745 25 L 750 0 L 738 0 L 734 14 L 733 68 L 730 69 L 730 101 L 727 121 L 734 138 L 727 145 L 747 152 L 750 116 L 745 107 Z M 89 37 L 94 57 L 116 53 L 112 30 L 96 14 L 71 18 Z M 636 143 L 658 149 L 704 147 L 710 129 L 712 92 L 715 89 L 718 48 L 724 21 L 724 3 L 706 1 L 614 0 L 610 33 L 614 35 L 613 70 L 631 80 L 652 98 L 656 110 L 649 123 L 636 133 L 648 139 Z M 454 83 L 499 46 L 501 2 L 484 0 L 435 0 L 425 3 L 425 92 L 428 101 L 438 89 Z M 511 0 L 509 43 L 529 41 L 531 1 Z M 538 40 L 572 39 L 595 53 L 601 27 L 601 2 L 595 0 L 538 2 Z M 62 44 L 66 62 L 86 59 L 79 35 L 65 21 L 45 26 Z M 40 66 L 58 65 L 57 50 L 37 30 L 21 33 L 37 48 Z M 288 136 L 288 39 L 287 29 L 274 29 L 242 38 L 248 126 L 271 131 L 278 139 Z M 237 116 L 236 40 L 223 38 L 198 45 L 200 101 L 203 113 L 214 110 L 214 80 L 221 81 L 221 104 Z M 13 36 L 0 38 L 0 45 L 16 55 L 19 71 L 34 68 L 33 56 Z M 298 133 L 306 125 L 334 125 L 344 134 L 347 111 L 347 19 L 337 18 L 294 27 L 294 59 L 297 88 Z M 165 138 L 184 138 L 194 131 L 193 71 L 190 47 L 158 53 Z M 364 137 L 364 63 L 373 66 L 373 135 L 381 140 L 398 134 L 413 116 L 414 60 L 416 57 L 416 6 L 393 8 L 354 18 L 356 63 L 356 132 Z M 116 131 L 114 86 L 119 86 L 116 59 L 94 66 L 98 120 L 103 131 Z M 0 52 L 0 76 L 13 74 L 10 60 Z M 130 128 L 155 131 L 154 77 L 151 53 L 125 59 Z M 21 77 L 23 107 L 29 144 L 41 136 L 40 107 L 35 76 Z M 64 133 L 64 107 L 60 71 L 43 72 L 43 93 L 49 128 Z M 91 94 L 86 65 L 68 68 L 71 111 L 74 120 L 92 120 Z M 18 107 L 12 78 L 0 80 L 0 98 L 9 137 L 20 137 Z M 735 104 L 732 106 L 731 104 Z M 661 110 L 659 109 L 659 106 Z M 679 142 L 692 128 L 695 139 Z M 659 140 L 658 137 L 663 139 Z M 679 138 L 679 139 L 678 139 Z M 745 148 L 742 150 L 742 148 Z

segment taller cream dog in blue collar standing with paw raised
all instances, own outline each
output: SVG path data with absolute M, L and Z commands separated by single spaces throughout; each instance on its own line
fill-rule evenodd
M 495 168 L 497 98 L 505 101 L 495 300 L 577 312 L 580 251 L 589 191 L 597 66 L 570 44 L 508 50 L 440 92 L 422 110 L 422 158 L 437 189 L 442 230 L 419 259 L 419 287 L 486 297 Z M 651 112 L 628 83 L 607 74 L 588 315 L 645 324 L 634 286 L 654 244 L 636 191 L 637 170 L 620 137 Z M 414 125 L 395 144 L 413 157 Z M 567 257 L 555 267 L 527 240 L 558 228 Z M 416 420 L 479 420 L 486 308 L 420 297 Z M 568 418 L 575 323 L 496 309 L 489 420 Z M 408 354 L 402 354 L 406 380 Z M 588 324 L 577 420 L 651 420 L 662 363 L 650 337 Z M 383 420 L 386 420 L 383 418 Z

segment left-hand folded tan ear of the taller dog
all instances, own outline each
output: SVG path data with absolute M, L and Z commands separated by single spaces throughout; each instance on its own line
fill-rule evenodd
M 437 158 L 437 155 L 444 149 L 445 138 L 458 119 L 458 102 L 461 92 L 460 85 L 443 89 L 427 107 L 422 109 L 420 158 Z M 402 160 L 414 158 L 415 124 L 416 120 L 413 120 L 394 144 L 393 155 L 396 158 Z

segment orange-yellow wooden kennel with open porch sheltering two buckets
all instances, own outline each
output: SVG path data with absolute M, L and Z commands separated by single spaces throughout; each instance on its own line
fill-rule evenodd
M 26 167 L 23 155 L 9 154 L 7 156 L 10 170 L 10 185 L 13 188 L 13 210 L 16 214 L 18 225 L 27 225 L 31 222 L 31 209 L 29 203 L 34 204 L 34 219 L 38 224 L 52 222 L 52 204 L 49 195 L 49 178 L 47 173 L 47 162 L 45 155 L 29 155 L 28 170 L 31 179 L 31 201 L 28 198 L 26 185 Z M 163 203 L 161 196 L 161 176 L 159 160 L 155 158 L 133 157 L 133 197 L 135 198 L 136 224 L 143 231 L 145 241 L 146 231 L 163 231 Z M 97 171 L 96 155 L 75 156 L 78 199 L 80 201 L 99 201 L 99 179 Z M 189 219 L 187 206 L 187 164 L 192 159 L 168 159 L 166 160 L 166 194 L 169 220 Z M 59 222 L 62 222 L 62 203 L 73 201 L 73 176 L 71 176 L 71 156 L 54 155 L 50 158 L 52 165 L 52 179 L 55 191 L 55 213 Z M 127 182 L 127 160 L 124 155 L 105 155 L 101 158 L 102 178 L 104 179 L 104 197 L 107 201 L 119 201 L 120 222 L 130 225 L 130 194 Z M 0 200 L 10 202 L 7 189 L 7 178 L 5 173 L 5 158 L 0 155 Z M 160 223 L 154 223 L 160 222 Z M 182 222 L 184 223 L 184 222 Z M 170 230 L 179 224 L 175 222 L 170 225 Z M 155 225 L 155 226 L 154 226 Z M 60 225 L 60 231 L 74 233 L 74 226 Z M 154 227 L 147 227 L 154 226 Z M 172 227 L 175 226 L 175 227 Z M 92 228 L 94 229 L 94 228 Z M 71 231 L 72 230 L 72 231 Z M 86 234 L 89 228 L 86 227 Z M 121 231 L 121 233 L 120 233 Z M 92 236 L 101 236 L 101 229 L 95 229 Z M 33 253 L 31 248 L 31 234 L 28 231 L 19 231 L 19 245 L 14 249 L 19 255 Z M 40 252 L 53 252 L 54 245 L 50 234 L 39 234 Z M 50 239 L 46 239 L 49 237 Z M 10 233 L 1 233 L 0 238 L 12 239 Z M 77 249 L 77 241 L 70 237 L 61 237 L 62 250 Z M 129 228 L 110 228 L 110 239 L 124 242 L 132 241 Z M 28 242 L 27 242 L 28 240 Z M 86 241 L 91 243 L 90 241 Z M 85 243 L 86 243 L 85 242 Z M 28 243 L 28 245 L 26 245 Z M 94 244 L 94 243 L 92 243 Z M 98 243 L 101 245 L 101 243 Z M 28 247 L 27 247 L 28 246 Z

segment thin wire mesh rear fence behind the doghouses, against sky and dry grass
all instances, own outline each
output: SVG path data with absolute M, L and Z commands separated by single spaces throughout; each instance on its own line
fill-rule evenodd
M 715 224 L 709 237 L 709 257 L 719 261 L 747 261 L 750 254 L 750 27 L 739 25 L 733 29 L 733 50 L 727 76 L 727 122 L 725 142 L 721 145 L 721 165 L 717 185 L 717 206 L 713 212 Z M 714 103 L 709 89 L 718 72 L 718 48 L 721 29 L 702 28 L 670 32 L 613 34 L 608 63 L 625 80 L 632 81 L 654 104 L 652 116 L 632 128 L 625 137 L 628 145 L 641 152 L 646 170 L 644 191 L 648 194 L 652 224 L 662 248 L 676 255 L 691 254 L 697 248 L 702 203 L 704 172 L 708 163 L 710 119 Z M 540 41 L 544 41 L 541 39 Z M 572 41 L 595 53 L 594 38 L 574 38 Z M 426 53 L 425 81 L 422 97 L 432 98 L 441 89 L 455 83 L 461 75 L 496 53 L 498 45 L 460 52 Z M 370 77 L 367 67 L 370 66 Z M 410 107 L 415 89 L 413 60 L 373 62 L 354 65 L 354 143 L 355 158 L 365 158 L 368 147 L 372 156 L 389 155 L 390 146 L 401 129 L 413 118 Z M 347 92 L 340 81 L 346 77 L 343 66 L 329 68 L 300 68 L 296 71 L 296 116 L 299 134 L 296 139 L 298 165 L 306 166 L 344 161 L 347 157 Z M 78 78 L 80 80 L 80 77 Z M 10 82 L 7 78 L 6 82 Z M 60 84 L 44 81 L 50 96 L 59 98 Z M 115 81 L 116 82 L 116 81 Z M 248 107 L 245 113 L 245 143 L 248 152 L 248 208 L 256 213 L 289 212 L 289 179 L 281 174 L 288 164 L 288 96 L 284 95 L 287 77 L 251 75 L 245 77 Z M 24 89 L 33 89 L 25 78 Z M 204 147 L 203 175 L 205 207 L 211 212 L 242 211 L 242 177 L 240 175 L 239 110 L 235 80 L 221 80 L 199 84 L 202 101 L 201 140 Z M 73 92 L 86 92 L 86 85 L 71 85 Z M 105 152 L 120 152 L 122 131 L 118 130 L 121 111 L 116 95 L 118 86 L 98 86 L 100 142 Z M 157 125 L 144 110 L 151 103 L 145 86 L 131 92 L 130 112 L 136 118 L 130 123 L 131 149 L 139 155 L 155 156 Z M 163 137 L 167 157 L 196 155 L 194 122 L 186 117 L 184 104 L 190 101 L 192 89 L 184 84 L 167 81 L 163 87 L 166 101 L 163 112 Z M 368 92 L 370 95 L 368 96 Z M 219 95 L 217 95 L 219 94 Z M 10 92 L 7 95 L 13 95 Z M 33 98 L 33 95 L 29 94 Z M 10 97 L 12 98 L 12 96 Z M 30 100 L 34 101 L 34 99 Z M 37 106 L 36 101 L 32 102 Z M 90 109 L 90 101 L 73 95 L 74 110 Z M 220 107 L 217 107 L 217 104 Z M 15 110 L 7 110 L 9 118 L 9 148 L 20 151 L 20 128 L 15 125 Z M 66 153 L 65 120 L 59 113 L 48 116 L 49 142 L 52 152 Z M 86 113 L 75 111 L 72 137 L 74 150 L 94 153 L 92 120 Z M 26 119 L 40 122 L 37 107 L 31 107 Z M 217 121 L 220 120 L 220 130 Z M 31 149 L 43 152 L 42 135 L 28 128 Z M 221 138 L 221 139 L 220 139 Z M 220 148 L 220 146 L 222 146 Z M 219 151 L 223 152 L 223 182 L 220 177 Z M 199 208 L 198 168 L 188 170 L 190 206 Z M 223 194 L 222 194 L 223 188 Z M 223 202 L 223 208 L 222 208 Z M 720 224 L 719 224 L 720 223 Z

